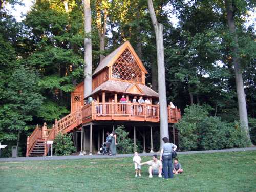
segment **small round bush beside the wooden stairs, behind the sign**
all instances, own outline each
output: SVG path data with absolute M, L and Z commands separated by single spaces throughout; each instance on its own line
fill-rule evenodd
M 73 146 L 71 134 L 58 134 L 54 139 L 53 148 L 55 155 L 70 155 L 76 150 Z

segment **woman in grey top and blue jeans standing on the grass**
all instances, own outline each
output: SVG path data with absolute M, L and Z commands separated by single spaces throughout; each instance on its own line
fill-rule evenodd
M 173 178 L 173 157 L 172 152 L 176 150 L 177 146 L 170 143 L 167 137 L 163 138 L 164 145 L 161 149 L 160 160 L 163 162 L 164 179 Z

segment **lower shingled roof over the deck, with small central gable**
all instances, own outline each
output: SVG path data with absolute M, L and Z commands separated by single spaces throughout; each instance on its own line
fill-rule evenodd
M 129 92 L 129 89 L 138 86 L 138 89 L 141 93 L 132 93 Z M 152 90 L 151 88 L 147 87 L 145 84 L 135 84 L 132 82 L 124 82 L 124 81 L 115 81 L 115 80 L 108 80 L 104 83 L 102 83 L 100 86 L 98 86 L 91 95 L 94 95 L 95 93 L 99 91 L 109 91 L 109 92 L 116 92 L 116 93 L 123 93 L 123 94 L 135 94 L 135 95 L 141 95 L 141 96 L 150 96 L 150 97 L 159 97 L 159 94 Z

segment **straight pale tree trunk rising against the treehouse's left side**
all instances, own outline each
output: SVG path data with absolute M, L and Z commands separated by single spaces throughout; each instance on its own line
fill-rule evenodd
M 92 15 L 90 0 L 84 0 L 84 97 L 92 93 Z

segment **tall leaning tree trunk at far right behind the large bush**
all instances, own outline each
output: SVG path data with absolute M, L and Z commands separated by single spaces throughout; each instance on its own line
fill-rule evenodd
M 227 11 L 227 23 L 229 32 L 232 36 L 233 40 L 233 66 L 234 66 L 234 74 L 236 78 L 236 88 L 238 95 L 238 109 L 239 109 L 239 119 L 240 126 L 246 132 L 246 136 L 250 145 L 251 139 L 249 134 L 249 126 L 248 126 L 248 117 L 247 117 L 247 109 L 246 109 L 246 100 L 244 93 L 244 81 L 241 72 L 241 64 L 238 57 L 238 37 L 236 33 L 236 25 L 234 23 L 234 13 L 236 12 L 236 7 L 234 7 L 234 2 L 232 0 L 225 0 L 225 6 Z

